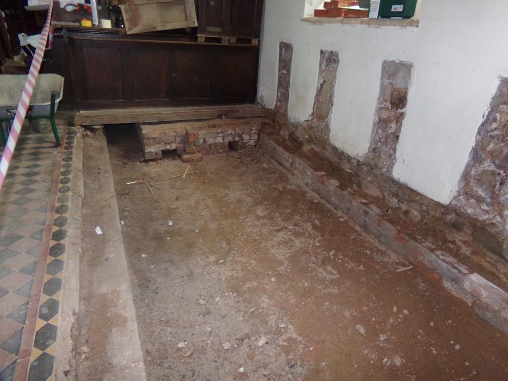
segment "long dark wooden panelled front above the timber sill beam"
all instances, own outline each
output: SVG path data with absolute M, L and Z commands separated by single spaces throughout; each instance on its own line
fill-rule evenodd
M 75 101 L 78 110 L 230 105 L 256 99 L 258 46 L 77 30 L 54 40 L 53 60 L 45 72 L 66 77 L 62 104 Z

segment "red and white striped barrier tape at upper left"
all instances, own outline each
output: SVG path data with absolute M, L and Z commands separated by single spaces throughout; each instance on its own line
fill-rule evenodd
M 49 36 L 52 11 L 53 0 L 50 0 L 48 16 L 46 17 L 46 22 L 44 24 L 44 28 L 42 29 L 41 37 L 39 39 L 39 43 L 37 44 L 34 58 L 30 65 L 28 77 L 26 78 L 25 86 L 18 103 L 16 116 L 14 117 L 14 122 L 12 123 L 11 132 L 9 133 L 9 139 L 7 140 L 7 144 L 4 148 L 4 153 L 2 154 L 2 160 L 0 161 L 0 191 L 4 185 L 7 170 L 9 169 L 9 164 L 11 163 L 12 155 L 14 153 L 14 149 L 16 148 L 16 143 L 18 142 L 19 134 L 21 132 L 21 126 L 25 120 L 26 111 L 28 110 L 28 105 L 30 104 L 30 99 L 37 82 L 37 77 L 39 76 L 39 71 L 41 70 L 42 58 L 44 57 L 44 50 L 46 49 L 46 42 L 48 41 Z

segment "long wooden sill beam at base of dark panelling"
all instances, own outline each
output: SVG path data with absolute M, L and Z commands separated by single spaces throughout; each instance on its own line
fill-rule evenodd
M 140 123 L 193 119 L 215 119 L 265 116 L 260 105 L 203 106 L 203 107 L 153 107 L 81 111 L 75 125 Z

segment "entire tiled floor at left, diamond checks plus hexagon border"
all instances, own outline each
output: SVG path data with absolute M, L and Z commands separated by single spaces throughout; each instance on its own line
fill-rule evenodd
M 57 148 L 41 130 L 23 128 L 0 193 L 2 381 L 53 379 L 74 132 Z

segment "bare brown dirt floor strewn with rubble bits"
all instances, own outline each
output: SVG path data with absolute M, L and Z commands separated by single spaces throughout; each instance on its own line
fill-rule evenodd
M 260 151 L 172 178 L 107 137 L 148 380 L 508 379 L 505 334 Z

